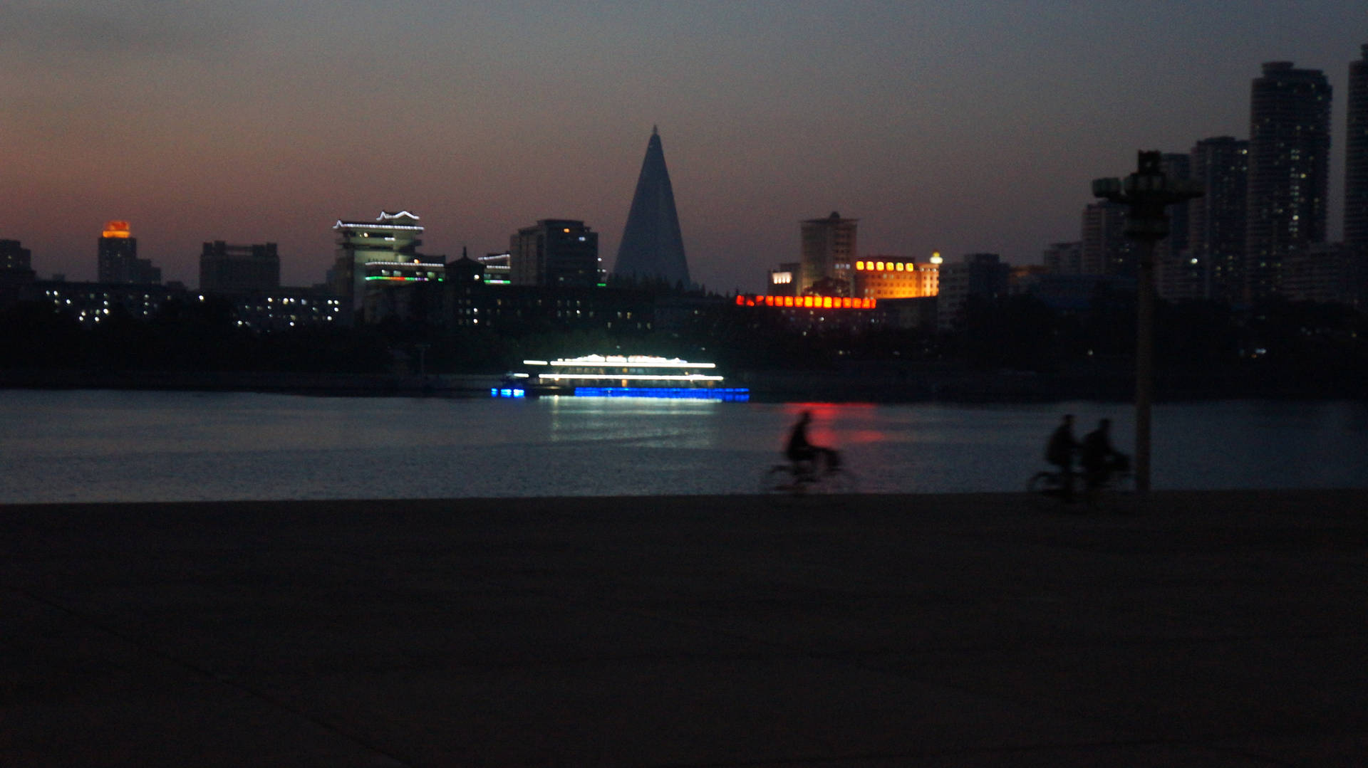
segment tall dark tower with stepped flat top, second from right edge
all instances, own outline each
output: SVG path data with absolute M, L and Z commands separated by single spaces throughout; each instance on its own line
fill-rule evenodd
M 1326 239 L 1330 82 L 1291 61 L 1264 64 L 1249 97 L 1245 297 L 1278 294 L 1282 265 Z

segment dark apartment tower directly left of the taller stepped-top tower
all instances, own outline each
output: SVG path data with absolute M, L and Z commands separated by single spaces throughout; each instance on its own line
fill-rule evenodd
M 1205 194 L 1187 202 L 1187 250 L 1207 282 L 1207 297 L 1244 301 L 1249 142 L 1234 137 L 1198 141 L 1192 178 Z

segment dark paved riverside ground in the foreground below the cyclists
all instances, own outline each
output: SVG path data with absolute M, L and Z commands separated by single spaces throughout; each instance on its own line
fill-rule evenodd
M 1368 764 L 1368 492 L 0 506 L 0 765 Z

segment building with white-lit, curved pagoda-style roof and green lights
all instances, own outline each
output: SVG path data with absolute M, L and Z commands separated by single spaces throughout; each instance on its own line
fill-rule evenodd
M 443 264 L 419 253 L 423 225 L 408 210 L 382 210 L 375 221 L 342 221 L 337 232 L 337 261 L 332 265 L 332 292 L 345 297 L 345 305 L 357 310 L 365 299 L 367 264 Z M 343 313 L 347 321 L 349 313 Z

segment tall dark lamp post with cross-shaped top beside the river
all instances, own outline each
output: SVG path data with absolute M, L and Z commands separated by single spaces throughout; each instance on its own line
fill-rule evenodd
M 1135 275 L 1135 492 L 1149 495 L 1149 410 L 1155 398 L 1155 243 L 1168 236 L 1166 208 L 1201 197 L 1201 184 L 1170 179 L 1157 152 L 1141 152 L 1134 174 L 1094 179 L 1093 195 L 1130 206 L 1126 236 L 1140 243 Z

